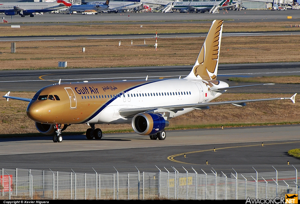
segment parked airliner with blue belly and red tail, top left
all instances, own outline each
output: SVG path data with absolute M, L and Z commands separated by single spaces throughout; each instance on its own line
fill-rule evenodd
M 71 5 L 71 3 L 64 0 L 53 2 L 0 2 L 0 13 L 5 13 L 7 16 L 33 17 L 33 13 L 50 12 Z

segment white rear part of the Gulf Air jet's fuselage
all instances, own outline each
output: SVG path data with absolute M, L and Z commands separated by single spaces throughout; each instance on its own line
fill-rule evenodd
M 120 116 L 122 108 L 149 108 L 166 105 L 197 104 L 209 102 L 222 93 L 211 92 L 209 82 L 191 79 L 167 79 L 138 86 L 125 92 L 125 97 L 116 98 L 88 123 L 131 123 L 131 118 Z M 228 87 L 219 81 L 214 87 Z M 185 114 L 194 108 L 177 111 L 173 117 Z

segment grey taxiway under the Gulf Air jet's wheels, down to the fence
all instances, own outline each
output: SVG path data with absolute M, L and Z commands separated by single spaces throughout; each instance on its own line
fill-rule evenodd
M 1 139 L 1 168 L 31 168 L 93 173 L 171 170 L 185 167 L 210 173 L 238 173 L 293 170 L 300 160 L 287 155 L 299 148 L 300 125 L 263 126 L 228 129 L 168 131 L 165 140 L 150 140 L 135 133 L 107 134 L 101 140 L 84 135 L 64 136 L 62 143 L 51 137 Z M 262 146 L 262 142 L 264 146 Z M 216 148 L 216 152 L 214 152 Z M 196 151 L 196 152 L 194 152 Z M 184 158 L 186 153 L 186 158 Z M 177 155 L 177 156 L 174 156 Z M 172 157 L 173 156 L 173 157 Z M 172 157 L 168 159 L 168 157 Z M 206 165 L 208 160 L 208 165 Z

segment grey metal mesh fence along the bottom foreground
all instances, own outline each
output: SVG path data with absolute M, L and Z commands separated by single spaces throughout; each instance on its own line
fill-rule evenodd
M 298 172 L 94 174 L 1 169 L 0 199 L 251 199 L 298 194 Z

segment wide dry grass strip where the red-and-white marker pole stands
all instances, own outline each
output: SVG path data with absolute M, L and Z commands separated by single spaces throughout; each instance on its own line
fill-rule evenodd
M 0 70 L 57 68 L 67 61 L 68 68 L 189 65 L 195 62 L 204 41 L 201 38 L 121 40 L 18 41 L 16 53 L 10 42 L 0 44 Z M 220 63 L 300 61 L 300 48 L 294 36 L 222 37 Z M 82 52 L 85 47 L 85 52 Z M 229 51 L 228 51 L 229 49 Z

